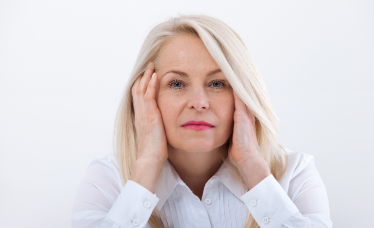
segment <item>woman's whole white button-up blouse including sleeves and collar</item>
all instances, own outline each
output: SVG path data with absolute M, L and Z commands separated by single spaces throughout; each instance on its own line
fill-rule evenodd
M 326 189 L 312 155 L 286 149 L 288 168 L 278 181 L 269 175 L 250 191 L 227 165 L 206 182 L 202 200 L 169 161 L 155 194 L 129 180 L 125 185 L 113 155 L 95 159 L 79 186 L 73 228 L 151 228 L 154 208 L 166 228 L 241 228 L 248 210 L 261 228 L 331 228 Z

